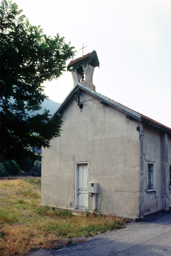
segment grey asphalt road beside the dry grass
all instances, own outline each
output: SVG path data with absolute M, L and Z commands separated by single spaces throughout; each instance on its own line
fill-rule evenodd
M 171 256 L 171 211 L 129 223 L 126 228 L 88 237 L 59 250 L 38 250 L 27 256 Z

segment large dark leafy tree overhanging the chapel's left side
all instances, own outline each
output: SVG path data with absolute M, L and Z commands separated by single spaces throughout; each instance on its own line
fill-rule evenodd
M 36 159 L 28 147 L 49 147 L 49 141 L 60 135 L 62 121 L 56 115 L 50 121 L 49 111 L 41 109 L 45 98 L 42 83 L 57 79 L 65 62 L 75 50 L 58 34 L 43 34 L 21 14 L 16 3 L 2 0 L 1 12 L 1 159 Z M 32 114 L 29 115 L 28 111 Z

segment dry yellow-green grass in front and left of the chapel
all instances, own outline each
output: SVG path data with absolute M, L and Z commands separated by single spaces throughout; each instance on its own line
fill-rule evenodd
M 40 178 L 0 181 L 0 255 L 59 248 L 125 226 L 113 216 L 72 215 L 40 204 Z M 79 237 L 79 238 L 78 238 Z

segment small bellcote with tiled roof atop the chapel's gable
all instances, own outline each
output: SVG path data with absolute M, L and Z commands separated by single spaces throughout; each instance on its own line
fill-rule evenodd
M 95 85 L 92 82 L 92 76 L 94 67 L 96 66 L 99 67 L 99 61 L 95 50 L 70 61 L 67 65 L 67 71 L 69 70 L 72 72 L 73 86 L 79 82 L 88 88 L 95 90 Z

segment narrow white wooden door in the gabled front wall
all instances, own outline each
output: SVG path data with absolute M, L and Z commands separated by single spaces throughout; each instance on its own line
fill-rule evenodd
M 77 208 L 84 209 L 88 207 L 88 166 L 87 164 L 77 165 Z

